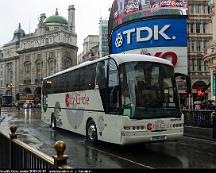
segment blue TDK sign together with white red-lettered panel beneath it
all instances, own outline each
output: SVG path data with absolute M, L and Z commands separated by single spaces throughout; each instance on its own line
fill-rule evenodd
M 149 19 L 121 26 L 112 33 L 111 53 L 167 59 L 175 66 L 175 72 L 187 74 L 186 18 Z

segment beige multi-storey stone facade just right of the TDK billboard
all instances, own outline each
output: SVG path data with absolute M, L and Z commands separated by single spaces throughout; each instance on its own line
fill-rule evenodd
M 209 99 L 209 66 L 204 61 L 205 49 L 212 40 L 209 0 L 189 0 L 188 17 L 188 74 L 191 77 L 193 101 Z

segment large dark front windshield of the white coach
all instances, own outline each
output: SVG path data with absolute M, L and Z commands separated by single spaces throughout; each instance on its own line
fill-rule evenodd
M 172 66 L 157 62 L 120 65 L 123 115 L 132 119 L 181 117 Z

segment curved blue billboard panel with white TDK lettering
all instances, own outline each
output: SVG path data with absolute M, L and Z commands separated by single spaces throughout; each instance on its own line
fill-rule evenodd
M 112 53 L 139 48 L 186 47 L 186 19 L 152 19 L 122 26 L 112 33 Z

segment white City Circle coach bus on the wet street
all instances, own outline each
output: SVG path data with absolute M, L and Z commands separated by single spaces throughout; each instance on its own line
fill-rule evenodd
M 125 145 L 183 135 L 174 67 L 147 55 L 111 54 L 43 79 L 42 120 Z

